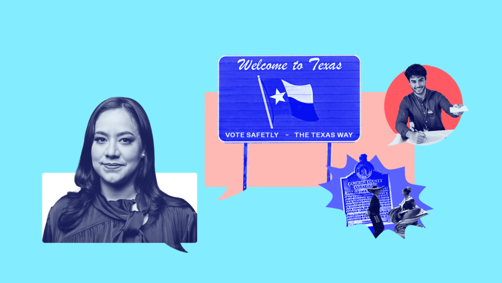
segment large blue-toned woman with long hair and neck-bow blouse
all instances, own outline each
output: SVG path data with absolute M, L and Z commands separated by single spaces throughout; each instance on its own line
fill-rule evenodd
M 197 213 L 160 190 L 152 128 L 129 98 L 99 104 L 87 124 L 75 173 L 78 192 L 51 208 L 45 243 L 181 243 L 197 241 Z

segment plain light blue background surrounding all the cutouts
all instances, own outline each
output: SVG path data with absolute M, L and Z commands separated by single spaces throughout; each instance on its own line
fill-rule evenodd
M 3 1 L 3 279 L 495 279 L 502 210 L 493 3 Z M 204 93 L 217 90 L 218 59 L 240 54 L 356 54 L 362 91 L 386 91 L 412 63 L 450 74 L 470 112 L 448 139 L 416 148 L 415 180 L 427 186 L 420 199 L 434 208 L 427 228 L 375 240 L 325 208 L 331 194 L 320 186 L 250 187 L 216 201 L 225 188 L 204 186 Z M 75 171 L 88 118 L 112 96 L 146 109 L 158 172 L 198 173 L 198 243 L 184 244 L 188 254 L 165 244 L 42 243 L 42 173 Z

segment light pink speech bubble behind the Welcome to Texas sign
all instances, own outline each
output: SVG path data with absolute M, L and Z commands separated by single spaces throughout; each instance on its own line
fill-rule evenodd
M 355 143 L 332 144 L 331 166 L 344 167 L 346 155 L 368 159 L 378 155 L 388 168 L 406 167 L 406 179 L 415 181 L 415 148 L 403 143 L 387 146 L 395 134 L 385 118 L 385 92 L 361 93 L 361 138 Z M 207 187 L 227 187 L 218 200 L 242 192 L 243 144 L 218 139 L 218 95 L 205 93 L 205 177 Z M 249 144 L 248 187 L 315 187 L 326 182 L 326 143 Z

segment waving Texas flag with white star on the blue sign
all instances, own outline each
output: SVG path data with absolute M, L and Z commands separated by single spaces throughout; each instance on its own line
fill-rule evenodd
M 262 88 L 264 90 L 264 99 L 268 99 L 270 105 L 269 116 L 274 123 L 274 120 L 281 119 L 281 114 L 285 114 L 288 108 L 289 114 L 293 117 L 307 122 L 315 122 L 319 120 L 314 108 L 314 93 L 310 84 L 295 85 L 283 79 L 263 79 L 261 80 Z M 284 102 L 284 104 L 282 104 Z M 290 117 L 291 117 L 290 116 Z

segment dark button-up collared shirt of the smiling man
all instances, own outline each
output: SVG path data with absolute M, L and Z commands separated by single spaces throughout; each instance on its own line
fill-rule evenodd
M 410 130 L 406 124 L 408 117 L 410 122 L 415 125 L 416 131 L 441 131 L 444 130 L 443 122 L 441 121 L 441 109 L 453 118 L 458 116 L 450 113 L 451 103 L 436 90 L 426 88 L 425 99 L 421 100 L 414 92 L 403 98 L 399 106 L 398 118 L 396 119 L 396 130 L 401 134 L 403 139 L 406 139 L 406 133 Z M 432 110 L 432 114 L 427 111 Z

